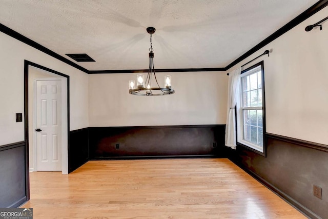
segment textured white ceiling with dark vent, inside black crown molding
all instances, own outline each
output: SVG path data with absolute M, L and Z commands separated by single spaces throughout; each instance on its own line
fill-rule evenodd
M 0 0 L 0 23 L 40 45 L 87 53 L 88 70 L 219 68 L 317 0 Z M 75 62 L 75 61 L 73 61 Z

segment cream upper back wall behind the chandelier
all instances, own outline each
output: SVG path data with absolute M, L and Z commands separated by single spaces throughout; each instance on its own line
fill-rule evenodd
M 159 85 L 164 76 L 156 73 Z M 227 83 L 224 72 L 172 72 L 175 94 L 129 94 L 134 73 L 89 75 L 89 124 L 156 126 L 226 124 Z

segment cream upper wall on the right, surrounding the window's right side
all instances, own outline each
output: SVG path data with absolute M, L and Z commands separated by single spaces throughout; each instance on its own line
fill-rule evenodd
M 325 7 L 229 70 L 272 50 L 250 64 L 264 59 L 268 133 L 328 144 L 328 22 L 304 31 L 327 14 Z

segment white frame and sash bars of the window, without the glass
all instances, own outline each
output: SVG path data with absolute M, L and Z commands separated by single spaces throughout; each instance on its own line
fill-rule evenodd
M 261 86 L 262 86 L 262 107 L 242 107 L 242 77 L 248 76 L 252 73 L 255 72 L 255 68 L 257 68 L 258 66 L 261 66 L 261 71 L 262 71 L 262 82 L 261 82 Z M 254 69 L 252 71 L 252 69 Z M 266 141 L 265 141 L 265 97 L 264 97 L 264 65 L 263 65 L 263 61 L 251 66 L 250 68 L 247 68 L 245 70 L 243 70 L 240 74 L 240 95 L 239 95 L 239 99 L 237 101 L 237 105 L 236 105 L 236 114 L 237 114 L 237 145 L 239 146 L 245 146 L 249 149 L 251 149 L 252 151 L 259 153 L 263 156 L 266 156 Z M 245 110 L 262 110 L 262 117 L 263 117 L 263 146 L 259 146 L 256 144 L 253 144 L 249 141 L 245 141 L 243 139 L 244 136 L 244 126 L 243 126 L 243 109 Z

